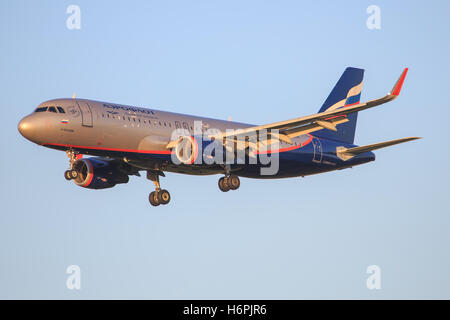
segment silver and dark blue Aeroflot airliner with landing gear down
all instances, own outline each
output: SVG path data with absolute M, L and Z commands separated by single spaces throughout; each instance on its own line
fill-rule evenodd
M 164 172 L 220 174 L 219 189 L 227 192 L 239 188 L 239 177 L 277 179 L 341 170 L 374 161 L 373 150 L 420 139 L 354 144 L 358 112 L 397 98 L 407 71 L 387 95 L 360 103 L 364 69 L 348 67 L 318 113 L 265 125 L 72 97 L 39 104 L 18 130 L 38 145 L 65 151 L 69 169 L 64 177 L 76 185 L 112 188 L 146 171 L 155 184 L 150 204 L 165 205 L 171 196 L 160 185 Z M 215 153 L 206 154 L 203 150 L 213 144 Z M 231 160 L 207 161 L 216 154 L 219 160 L 231 154 Z M 277 159 L 271 174 L 263 173 L 263 156 Z

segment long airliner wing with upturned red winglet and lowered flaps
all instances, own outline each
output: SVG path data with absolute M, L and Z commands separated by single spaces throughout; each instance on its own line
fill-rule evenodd
M 397 98 L 402 89 L 403 82 L 405 80 L 407 72 L 408 68 L 405 68 L 402 74 L 400 75 L 399 79 L 395 83 L 394 87 L 392 88 L 392 90 L 384 97 L 375 100 L 370 100 L 357 105 L 347 105 L 338 109 L 320 112 L 313 115 L 295 118 L 291 120 L 274 122 L 270 124 L 254 126 L 245 129 L 228 130 L 227 132 L 219 135 L 219 137 L 215 135 L 214 138 L 215 139 L 222 138 L 226 140 L 229 140 L 231 138 L 231 140 L 234 140 L 239 136 L 256 135 L 261 130 L 267 130 L 268 135 L 270 135 L 270 130 L 277 129 L 279 131 L 278 134 L 276 136 L 272 134 L 272 138 L 292 144 L 291 138 L 306 133 L 322 129 L 337 131 L 336 125 L 347 122 L 348 120 L 346 116 L 348 114 L 366 110 L 375 106 L 379 106 L 381 104 L 384 104 Z

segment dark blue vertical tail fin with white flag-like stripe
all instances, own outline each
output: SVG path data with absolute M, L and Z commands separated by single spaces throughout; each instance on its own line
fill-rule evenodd
M 334 110 L 359 103 L 364 77 L 364 69 L 347 68 L 331 91 L 319 112 Z M 337 131 L 323 129 L 314 133 L 320 138 L 353 143 L 355 140 L 358 113 L 347 115 L 348 122 L 337 125 Z

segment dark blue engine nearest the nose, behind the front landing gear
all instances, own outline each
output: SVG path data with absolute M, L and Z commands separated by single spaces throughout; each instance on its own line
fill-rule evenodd
M 73 169 L 78 173 L 73 181 L 84 188 L 107 189 L 129 181 L 128 174 L 120 170 L 118 165 L 101 158 L 77 160 Z

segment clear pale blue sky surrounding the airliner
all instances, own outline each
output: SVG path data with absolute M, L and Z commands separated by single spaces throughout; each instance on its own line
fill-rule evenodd
M 449 14 L 448 1 L 2 1 L 0 298 L 450 298 Z M 17 131 L 74 92 L 270 123 L 316 112 L 347 66 L 366 69 L 362 100 L 410 68 L 399 99 L 359 115 L 356 143 L 424 139 L 226 194 L 218 176 L 167 174 L 172 202 L 152 208 L 145 178 L 79 188 L 64 153 Z M 366 288 L 373 264 L 381 290 Z

